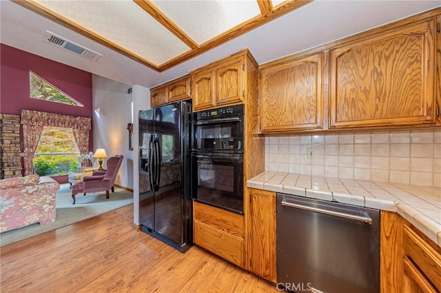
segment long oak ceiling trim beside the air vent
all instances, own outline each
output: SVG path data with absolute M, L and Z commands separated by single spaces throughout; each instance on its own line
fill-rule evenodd
M 123 54 L 125 57 L 128 57 L 130 59 L 133 59 L 134 61 L 142 63 L 143 65 L 146 65 L 147 67 L 152 68 L 153 70 L 159 71 L 158 65 L 148 61 L 147 59 L 144 59 L 143 57 L 138 56 L 134 52 L 127 50 L 122 46 L 119 46 L 117 43 L 114 43 L 108 39 L 105 39 L 104 37 L 101 37 L 99 34 L 92 32 L 92 30 L 80 26 L 78 23 L 71 21 L 66 17 L 63 17 L 63 15 L 54 12 L 49 8 L 46 8 L 37 1 L 30 1 L 30 0 L 11 0 L 11 1 L 19 4 L 19 6 L 28 8 L 32 12 L 40 14 L 42 17 L 50 19 L 51 21 L 54 21 L 60 24 L 61 26 L 64 26 L 65 28 L 73 30 L 74 32 L 77 32 L 79 34 L 82 34 L 84 37 L 88 37 L 89 39 L 92 39 L 93 41 L 96 41 L 97 43 L 100 43 L 101 45 L 110 48 L 111 50 L 114 50 L 119 54 Z

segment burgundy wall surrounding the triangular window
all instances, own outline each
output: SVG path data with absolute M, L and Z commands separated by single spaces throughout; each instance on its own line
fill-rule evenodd
M 92 119 L 92 74 L 0 44 L 0 113 L 37 110 Z M 77 107 L 30 98 L 29 70 L 84 105 Z M 92 130 L 89 150 L 93 151 Z M 57 181 L 67 181 L 67 176 Z M 65 177 L 65 178 L 64 178 Z

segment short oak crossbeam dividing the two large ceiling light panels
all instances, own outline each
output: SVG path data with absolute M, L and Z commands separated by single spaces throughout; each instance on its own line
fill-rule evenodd
M 169 19 L 161 10 L 156 8 L 154 4 L 148 0 L 133 0 L 134 3 L 138 4 L 139 7 L 143 8 L 145 12 L 150 14 L 156 21 L 161 23 L 167 30 L 170 30 L 172 34 L 174 34 L 178 39 L 183 41 L 189 48 L 192 48 L 192 50 L 198 48 L 198 44 L 192 40 L 191 37 L 189 37 L 188 34 L 186 34 L 181 28 L 176 25 L 172 21 L 172 19 Z

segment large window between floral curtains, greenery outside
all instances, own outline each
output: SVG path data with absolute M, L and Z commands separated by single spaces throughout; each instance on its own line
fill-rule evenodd
M 34 170 L 40 176 L 75 172 L 79 167 L 72 128 L 45 126 L 34 157 Z

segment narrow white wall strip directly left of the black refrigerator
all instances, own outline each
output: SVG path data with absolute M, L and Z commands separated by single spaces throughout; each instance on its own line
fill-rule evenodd
M 150 109 L 150 90 L 140 85 L 132 87 L 133 101 L 133 223 L 139 225 L 139 120 L 138 113 L 141 110 Z

